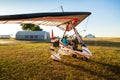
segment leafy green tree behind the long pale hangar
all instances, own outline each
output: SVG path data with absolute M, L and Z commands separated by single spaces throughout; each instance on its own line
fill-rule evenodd
M 43 29 L 40 28 L 39 25 L 35 25 L 35 24 L 20 24 L 20 26 L 22 26 L 23 30 L 27 30 L 27 31 L 42 31 Z

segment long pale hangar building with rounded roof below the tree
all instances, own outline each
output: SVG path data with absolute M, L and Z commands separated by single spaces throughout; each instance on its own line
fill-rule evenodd
M 17 40 L 50 40 L 50 34 L 46 31 L 18 31 L 16 33 Z

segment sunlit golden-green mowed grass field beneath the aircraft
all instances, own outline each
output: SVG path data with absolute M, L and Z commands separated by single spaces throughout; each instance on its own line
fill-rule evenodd
M 0 45 L 0 80 L 119 80 L 120 38 L 84 39 L 93 56 L 50 58 L 50 43 Z

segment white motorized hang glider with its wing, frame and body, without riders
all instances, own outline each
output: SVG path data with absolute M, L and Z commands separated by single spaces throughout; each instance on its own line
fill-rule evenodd
M 16 14 L 16 15 L 1 15 L 0 24 L 21 24 L 21 23 L 32 23 L 46 26 L 56 26 L 62 30 L 70 31 L 74 30 L 79 43 L 82 43 L 82 51 L 76 51 L 71 48 L 64 46 L 60 41 L 59 50 L 52 54 L 51 57 L 54 60 L 61 60 L 60 54 L 72 53 L 89 59 L 92 53 L 85 46 L 83 40 L 75 27 L 87 18 L 90 12 L 49 12 L 49 13 L 31 13 L 31 14 Z M 64 33 L 65 34 L 65 33 Z M 84 44 L 84 45 L 83 45 Z

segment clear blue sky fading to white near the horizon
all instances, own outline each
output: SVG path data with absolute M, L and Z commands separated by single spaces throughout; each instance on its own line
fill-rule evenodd
M 81 35 L 91 33 L 97 37 L 120 37 L 120 0 L 0 0 L 0 15 L 61 12 L 60 5 L 65 12 L 92 13 L 77 26 Z M 49 32 L 53 29 L 56 36 L 63 33 L 55 27 L 41 28 Z M 85 32 L 82 31 L 84 29 Z M 19 30 L 22 30 L 19 24 L 0 24 L 0 34 L 14 35 Z

